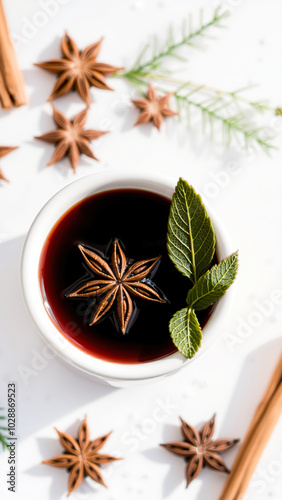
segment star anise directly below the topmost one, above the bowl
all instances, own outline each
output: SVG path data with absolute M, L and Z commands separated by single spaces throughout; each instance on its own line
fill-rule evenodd
M 85 130 L 83 128 L 87 118 L 87 109 L 78 113 L 73 120 L 69 120 L 53 105 L 53 117 L 58 125 L 57 130 L 52 130 L 39 137 L 35 137 L 35 139 L 56 144 L 55 152 L 49 163 L 47 163 L 48 166 L 68 156 L 71 166 L 75 171 L 79 155 L 82 153 L 97 160 L 90 148 L 90 141 L 98 139 L 101 135 L 106 134 L 107 131 Z

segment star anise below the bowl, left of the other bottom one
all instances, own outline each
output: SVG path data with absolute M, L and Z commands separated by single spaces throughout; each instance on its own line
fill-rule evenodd
M 56 429 L 56 431 L 59 435 L 61 445 L 66 451 L 62 453 L 62 455 L 44 460 L 42 463 L 68 469 L 70 473 L 68 495 L 78 488 L 83 478 L 86 476 L 90 476 L 97 483 L 106 486 L 101 474 L 100 465 L 114 462 L 115 460 L 121 460 L 121 458 L 98 453 L 104 446 L 111 432 L 95 439 L 95 441 L 90 441 L 86 417 L 79 428 L 77 440 L 65 432 L 60 432 L 58 429 Z

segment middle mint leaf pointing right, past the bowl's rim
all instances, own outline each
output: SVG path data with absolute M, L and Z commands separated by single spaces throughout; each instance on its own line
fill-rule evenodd
M 238 271 L 238 252 L 211 268 L 189 290 L 188 307 L 201 311 L 220 299 L 234 282 Z

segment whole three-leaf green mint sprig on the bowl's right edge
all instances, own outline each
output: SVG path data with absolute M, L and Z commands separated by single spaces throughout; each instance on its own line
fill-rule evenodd
M 187 307 L 177 311 L 169 331 L 177 349 L 192 358 L 201 346 L 202 330 L 196 311 L 219 300 L 234 282 L 238 252 L 208 269 L 215 253 L 215 232 L 201 197 L 179 179 L 168 220 L 167 248 L 176 269 L 193 283 Z

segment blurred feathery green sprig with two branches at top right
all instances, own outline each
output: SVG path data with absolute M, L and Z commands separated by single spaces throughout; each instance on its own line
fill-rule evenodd
M 250 87 L 226 91 L 193 81 L 183 81 L 176 78 L 168 66 L 171 58 L 185 64 L 183 49 L 187 46 L 200 47 L 199 41 L 207 38 L 212 28 L 223 27 L 222 22 L 228 15 L 228 11 L 222 11 L 218 7 L 211 19 L 204 22 L 203 12 L 200 11 L 196 28 L 190 15 L 188 20 L 183 21 L 180 39 L 175 39 L 174 30 L 170 28 L 163 45 L 155 37 L 151 44 L 144 47 L 129 70 L 114 76 L 128 80 L 142 95 L 146 94 L 149 83 L 154 83 L 162 93 L 172 92 L 180 118 L 185 118 L 190 127 L 192 119 L 200 117 L 202 130 L 211 139 L 215 137 L 214 129 L 219 125 L 222 141 L 227 147 L 236 143 L 239 148 L 249 149 L 255 145 L 268 152 L 273 147 L 272 137 L 265 132 L 264 127 L 256 126 L 253 119 L 249 119 L 249 114 L 252 112 L 255 117 L 257 113 L 273 110 L 265 101 L 248 99 L 243 92 Z

